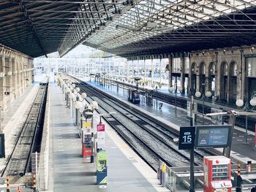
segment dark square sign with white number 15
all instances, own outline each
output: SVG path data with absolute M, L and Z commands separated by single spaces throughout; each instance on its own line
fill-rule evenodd
M 195 145 L 195 126 L 181 127 L 178 140 L 179 150 L 189 150 Z

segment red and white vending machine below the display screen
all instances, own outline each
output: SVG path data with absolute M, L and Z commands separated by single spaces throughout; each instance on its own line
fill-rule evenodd
M 203 158 L 203 191 L 231 192 L 231 160 L 225 156 Z

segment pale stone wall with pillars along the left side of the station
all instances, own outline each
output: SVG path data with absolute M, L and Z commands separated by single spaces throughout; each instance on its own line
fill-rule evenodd
M 0 44 L 0 106 L 2 110 L 34 82 L 33 58 Z

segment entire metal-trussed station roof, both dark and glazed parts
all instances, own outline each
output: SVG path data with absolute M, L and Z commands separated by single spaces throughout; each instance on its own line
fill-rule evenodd
M 83 43 L 131 57 L 256 43 L 255 0 L 2 0 L 0 43 L 32 57 Z

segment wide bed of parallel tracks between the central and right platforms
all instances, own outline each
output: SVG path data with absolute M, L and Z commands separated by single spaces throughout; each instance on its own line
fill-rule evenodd
M 105 117 L 105 120 L 121 135 L 155 170 L 157 170 L 159 159 L 165 161 L 169 166 L 188 166 L 189 153 L 187 150 L 178 150 L 173 138 L 178 137 L 169 128 L 160 126 L 146 115 L 139 114 L 115 99 L 110 99 L 108 94 L 95 91 L 91 85 L 77 82 L 81 92 L 89 95 L 89 102 L 94 100 L 99 104 L 99 113 L 116 112 L 115 115 Z M 203 156 L 209 155 L 204 151 L 195 151 L 195 165 L 203 164 Z

